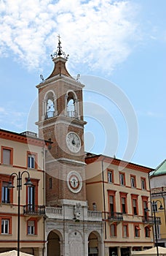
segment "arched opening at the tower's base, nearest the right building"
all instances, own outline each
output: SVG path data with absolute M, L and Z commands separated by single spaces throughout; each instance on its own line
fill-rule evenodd
M 98 234 L 95 232 L 90 233 L 88 238 L 88 255 L 89 256 L 99 256 L 100 244 L 98 241 Z

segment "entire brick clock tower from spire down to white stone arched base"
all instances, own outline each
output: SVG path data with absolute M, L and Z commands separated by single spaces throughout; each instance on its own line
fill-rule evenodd
M 39 83 L 39 138 L 50 140 L 44 154 L 47 256 L 88 255 L 88 237 L 102 241 L 101 215 L 88 217 L 84 162 L 84 121 L 79 75 L 66 69 L 61 47 L 51 56 L 54 69 Z M 94 219 L 93 219 L 94 215 Z M 78 224 L 79 223 L 79 224 Z M 101 246 L 100 246 L 101 250 Z

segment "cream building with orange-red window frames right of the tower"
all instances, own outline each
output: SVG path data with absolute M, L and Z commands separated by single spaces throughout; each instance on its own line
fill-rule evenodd
M 151 169 L 93 154 L 86 163 L 87 201 L 90 210 L 103 213 L 105 255 L 151 248 L 154 218 L 145 211 Z

